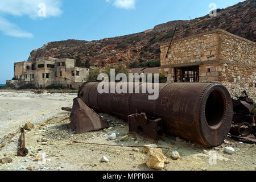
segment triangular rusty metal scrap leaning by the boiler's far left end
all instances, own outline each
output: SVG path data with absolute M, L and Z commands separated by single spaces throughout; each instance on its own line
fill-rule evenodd
M 90 109 L 80 97 L 73 100 L 72 113 L 68 125 L 69 130 L 75 130 L 76 134 L 97 131 L 109 127 L 108 122 L 103 120 Z

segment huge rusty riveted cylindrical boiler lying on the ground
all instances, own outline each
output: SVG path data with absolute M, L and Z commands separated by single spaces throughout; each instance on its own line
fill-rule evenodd
M 82 97 L 86 105 L 102 113 L 127 120 L 129 114 L 144 112 L 148 116 L 163 119 L 164 133 L 208 147 L 219 146 L 229 133 L 233 118 L 232 99 L 221 84 L 159 84 L 157 100 L 148 100 L 148 95 L 152 94 L 141 92 L 99 94 L 98 84 L 99 82 L 85 82 L 78 96 Z M 140 90 L 142 85 L 139 85 Z M 133 89 L 135 90 L 135 86 Z

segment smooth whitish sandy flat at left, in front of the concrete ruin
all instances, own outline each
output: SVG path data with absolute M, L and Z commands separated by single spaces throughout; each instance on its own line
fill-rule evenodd
M 72 106 L 76 94 L 0 92 L 0 138 L 26 122 L 39 124 Z

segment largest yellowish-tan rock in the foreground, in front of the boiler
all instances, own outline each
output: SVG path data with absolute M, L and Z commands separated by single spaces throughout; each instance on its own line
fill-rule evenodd
M 146 155 L 147 167 L 162 170 L 166 158 L 161 148 L 151 148 Z

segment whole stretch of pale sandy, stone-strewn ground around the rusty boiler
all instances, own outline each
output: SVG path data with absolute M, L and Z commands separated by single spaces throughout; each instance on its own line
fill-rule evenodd
M 0 93 L 1 94 L 1 93 Z M 9 94 L 9 93 L 5 93 Z M 13 93 L 11 93 L 13 94 Z M 20 93 L 25 95 L 28 93 Z M 34 98 L 30 97 L 35 96 Z M 65 94 L 64 94 L 65 95 Z M 2 97 L 2 96 L 1 96 Z M 28 97 L 28 98 L 27 98 Z M 111 127 L 109 129 L 96 131 L 92 133 L 76 135 L 67 130 L 69 113 L 61 111 L 61 106 L 72 105 L 72 95 L 68 95 L 64 100 L 63 96 L 56 94 L 39 97 L 29 93 L 26 97 L 16 98 L 4 97 L 0 99 L 1 111 L 3 104 L 16 103 L 15 110 L 8 111 L 8 114 L 2 113 L 1 117 L 9 118 L 11 122 L 15 123 L 2 123 L 1 119 L 1 133 L 12 133 L 26 119 L 34 121 L 36 124 L 35 129 L 26 131 L 26 147 L 28 148 L 28 155 L 26 157 L 16 156 L 18 149 L 19 133 L 14 135 L 6 135 L 3 139 L 5 146 L 0 149 L 0 159 L 4 156 L 13 159 L 12 163 L 0 164 L 1 170 L 27 170 L 31 167 L 33 170 L 132 170 L 144 171 L 153 170 L 146 166 L 145 156 L 142 148 L 144 144 L 151 144 L 150 140 L 129 134 L 129 140 L 126 142 L 115 143 L 114 140 L 108 140 L 109 135 L 113 132 L 119 133 L 118 138 L 128 134 L 127 123 L 121 119 L 112 117 L 106 114 L 100 114 L 105 119 L 108 119 Z M 75 96 L 76 97 L 76 96 Z M 23 109 L 24 103 L 22 101 L 29 100 L 28 102 L 33 111 Z M 44 102 L 51 101 L 51 106 Z M 46 114 L 42 118 L 42 114 L 37 113 L 36 107 L 40 103 L 40 111 Z M 19 104 L 19 105 L 18 105 Z M 48 107 L 47 107 L 48 105 Z M 28 106 L 26 106 L 28 107 Z M 43 109 L 43 107 L 45 109 Z M 51 109 L 49 109 L 51 107 Z M 39 107 L 37 107 L 39 108 Z M 7 109 L 6 109 L 7 110 Z M 46 111 L 47 110 L 47 111 Z M 19 117 L 14 117 L 11 113 L 19 113 Z M 34 112 L 34 114 L 33 114 Z M 46 112 L 46 113 L 45 113 Z M 35 115 L 38 114 L 38 115 Z M 52 114 L 52 115 L 51 115 Z M 15 119 L 14 119 L 15 118 Z M 20 119 L 19 119 L 20 118 Z M 30 119 L 34 118 L 34 119 Z M 44 120 L 44 121 L 43 121 Z M 40 123 L 45 123 L 40 126 Z M 2 126 L 9 126 L 2 131 Z M 47 144 L 41 142 L 41 138 L 47 140 Z M 92 144 L 78 144 L 72 143 L 73 141 L 114 144 L 115 146 L 96 146 Z M 217 148 L 204 148 L 195 143 L 191 143 L 180 138 L 166 136 L 163 140 L 156 143 L 159 147 L 169 147 L 166 157 L 170 162 L 165 164 L 163 170 L 176 171 L 176 170 L 256 170 L 255 144 L 246 144 L 226 138 L 225 143 Z M 127 145 L 137 146 L 139 151 L 133 151 L 134 147 L 124 147 Z M 224 147 L 231 146 L 235 149 L 234 154 L 227 154 L 224 152 Z M 171 158 L 172 151 L 178 151 L 181 159 L 174 160 Z M 163 150 L 165 152 L 165 150 Z M 43 156 L 43 161 L 35 162 L 36 156 Z M 109 163 L 101 163 L 102 156 L 109 159 Z

